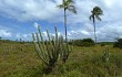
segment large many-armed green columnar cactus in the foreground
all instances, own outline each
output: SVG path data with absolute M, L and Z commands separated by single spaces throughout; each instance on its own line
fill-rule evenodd
M 63 36 L 58 36 L 55 28 L 55 36 L 51 36 L 47 30 L 48 41 L 45 42 L 42 32 L 38 26 L 38 33 L 32 33 L 33 43 L 38 56 L 43 61 L 48 68 L 53 68 L 58 61 L 61 58 L 65 63 L 70 53 L 70 46 L 64 44 Z

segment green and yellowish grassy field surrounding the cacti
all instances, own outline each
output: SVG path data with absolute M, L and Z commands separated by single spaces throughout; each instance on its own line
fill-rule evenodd
M 0 77 L 122 77 L 122 50 L 109 45 L 110 58 L 103 62 L 105 46 L 74 46 L 65 66 L 57 65 L 44 74 L 44 65 L 32 43 L 0 44 Z

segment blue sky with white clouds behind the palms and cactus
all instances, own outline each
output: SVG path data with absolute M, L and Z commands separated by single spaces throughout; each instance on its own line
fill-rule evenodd
M 38 32 L 40 25 L 43 36 L 45 29 L 54 35 L 64 35 L 63 10 L 57 8 L 62 0 L 0 0 L 0 36 L 7 40 L 31 41 L 31 33 Z M 121 0 L 74 0 L 78 14 L 67 11 L 68 38 L 91 37 L 94 40 L 93 24 L 89 20 L 91 10 L 103 10 L 102 21 L 96 21 L 98 41 L 115 41 L 122 37 Z

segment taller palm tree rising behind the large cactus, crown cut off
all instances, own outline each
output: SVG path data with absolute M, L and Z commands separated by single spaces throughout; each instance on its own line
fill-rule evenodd
M 68 41 L 68 38 L 67 38 L 67 10 L 77 14 L 77 10 L 75 10 L 75 7 L 73 6 L 73 3 L 74 3 L 73 0 L 63 0 L 62 4 L 57 6 L 58 8 L 63 9 L 63 11 L 64 11 L 65 41 Z

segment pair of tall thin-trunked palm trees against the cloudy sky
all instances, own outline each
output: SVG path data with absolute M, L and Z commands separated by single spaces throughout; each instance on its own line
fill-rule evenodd
M 67 35 L 67 11 L 71 11 L 77 14 L 77 10 L 74 7 L 74 1 L 73 0 L 63 0 L 62 4 L 57 6 L 60 9 L 63 9 L 64 11 L 64 29 L 65 29 L 65 41 L 68 42 L 68 35 Z M 94 38 L 96 43 L 96 34 L 95 34 L 95 19 L 101 21 L 100 15 L 103 14 L 103 11 L 99 7 L 94 7 L 93 10 L 91 11 L 90 20 L 93 21 L 93 26 L 94 26 Z

